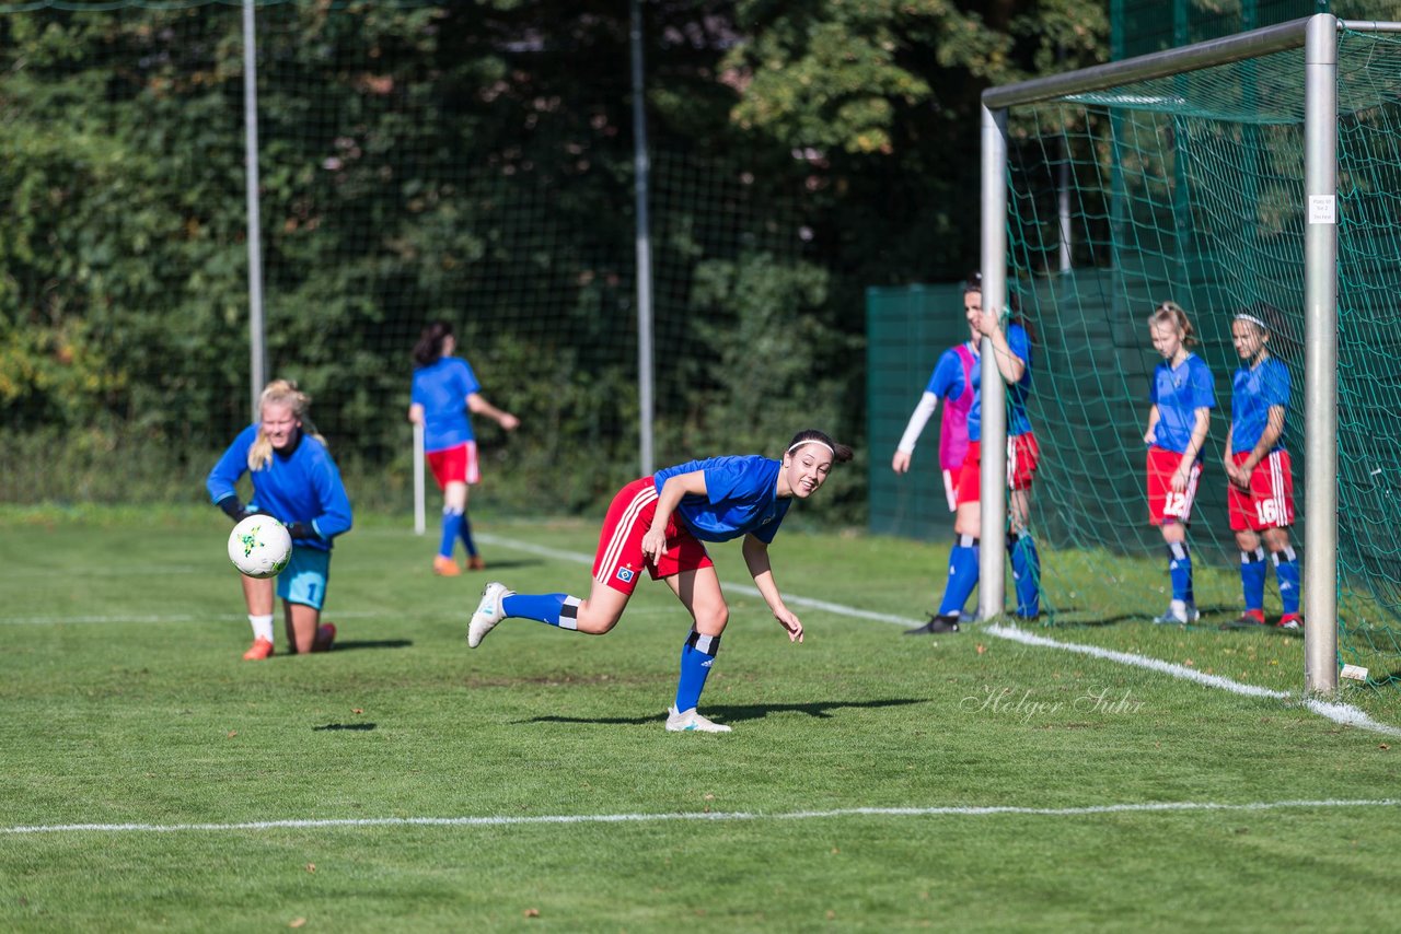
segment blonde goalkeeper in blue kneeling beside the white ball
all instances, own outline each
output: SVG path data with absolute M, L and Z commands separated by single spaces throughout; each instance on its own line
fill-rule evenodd
M 287 641 L 294 653 L 326 651 L 336 637 L 321 622 L 331 576 L 332 539 L 350 531 L 350 499 L 325 440 L 307 414 L 310 399 L 294 382 L 275 379 L 259 398 L 261 420 L 238 433 L 205 482 L 209 499 L 234 522 L 262 513 L 287 525 L 291 560 L 276 578 Z M 238 501 L 238 480 L 252 479 L 254 497 Z M 248 661 L 273 654 L 273 578 L 240 576 L 254 644 Z

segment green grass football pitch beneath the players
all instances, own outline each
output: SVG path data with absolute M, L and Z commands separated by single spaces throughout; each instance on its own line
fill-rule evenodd
M 401 525 L 342 539 L 336 651 L 244 662 L 214 510 L 0 513 L 0 930 L 1394 923 L 1391 693 L 1351 689 L 1358 728 L 988 627 L 906 639 L 941 548 L 786 529 L 807 641 L 716 549 L 702 710 L 734 732 L 668 734 L 686 619 L 663 585 L 608 637 L 510 620 L 469 651 L 488 577 L 434 578 Z M 591 524 L 478 525 L 489 577 L 584 590 Z M 1034 634 L 1303 681 L 1276 633 Z

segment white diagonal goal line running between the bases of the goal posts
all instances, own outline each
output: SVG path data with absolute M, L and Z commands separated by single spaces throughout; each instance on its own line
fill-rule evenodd
M 593 555 L 581 555 L 580 552 L 563 552 L 553 548 L 541 548 L 538 545 L 530 545 L 528 542 L 516 542 L 511 539 L 497 538 L 495 535 L 478 535 L 478 539 L 489 545 L 502 545 L 504 548 L 513 548 L 521 552 L 530 552 L 534 555 L 542 555 L 545 557 L 553 557 L 565 562 L 580 562 L 584 564 L 593 564 Z M 754 587 L 747 587 L 744 584 L 726 584 L 726 590 L 740 591 L 750 597 L 762 597 L 759 591 Z M 857 619 L 873 619 L 881 623 L 895 623 L 898 626 L 918 626 L 918 619 L 905 619 L 902 616 L 892 616 L 890 613 L 873 613 L 864 609 L 856 609 L 855 606 L 843 606 L 841 604 L 829 604 L 821 599 L 810 599 L 806 597 L 790 597 L 785 594 L 785 602 L 794 604 L 797 606 L 810 606 L 813 609 L 825 611 L 828 613 L 835 613 L 838 616 L 852 616 Z M 1045 636 L 1035 636 L 1033 633 L 1017 629 L 1016 626 L 1002 626 L 993 623 L 991 626 L 984 626 L 982 632 L 989 636 L 996 636 L 998 639 L 1006 639 L 1016 643 L 1023 643 L 1024 646 L 1037 646 L 1040 648 L 1059 648 L 1061 651 L 1079 653 L 1082 655 L 1093 655 L 1094 658 L 1101 658 L 1104 661 L 1114 661 L 1121 665 L 1132 665 L 1135 668 L 1147 668 L 1149 671 L 1156 671 L 1164 675 L 1171 675 L 1173 678 L 1181 678 L 1184 681 L 1195 681 L 1206 688 L 1216 688 L 1219 690 L 1229 690 L 1234 695 L 1241 695 L 1244 697 L 1274 697 L 1276 700 L 1290 700 L 1295 695 L 1285 690 L 1274 690 L 1271 688 L 1259 688 L 1257 685 L 1247 685 L 1238 681 L 1231 681 L 1230 678 L 1222 678 L 1219 675 L 1208 675 L 1199 672 L 1194 668 L 1187 668 L 1185 665 L 1175 665 L 1170 661 L 1161 661 L 1157 658 L 1149 658 L 1147 655 L 1135 655 L 1133 653 L 1121 653 L 1112 648 L 1100 648 L 1098 646 L 1084 646 L 1082 643 L 1063 643 L 1056 639 L 1047 639 Z M 1344 724 L 1346 727 L 1358 727 L 1359 730 L 1370 730 L 1373 732 L 1380 732 L 1387 737 L 1401 737 L 1401 728 L 1388 724 L 1377 723 L 1369 717 L 1362 710 L 1358 710 L 1352 704 L 1330 703 L 1327 700 L 1317 700 L 1313 697 L 1304 699 L 1304 707 L 1310 711 L 1332 720 L 1334 723 Z

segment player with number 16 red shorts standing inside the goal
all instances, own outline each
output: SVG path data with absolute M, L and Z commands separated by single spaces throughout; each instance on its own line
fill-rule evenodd
M 1279 625 L 1299 629 L 1299 557 L 1289 545 L 1295 522 L 1295 480 L 1281 441 L 1289 409 L 1289 367 L 1269 354 L 1272 305 L 1255 305 L 1231 321 L 1231 343 L 1244 361 L 1231 378 L 1231 421 L 1223 458 L 1230 527 L 1240 548 L 1245 612 L 1238 625 L 1265 622 L 1265 549 L 1279 583 Z M 1264 548 L 1261 548 L 1264 541 Z

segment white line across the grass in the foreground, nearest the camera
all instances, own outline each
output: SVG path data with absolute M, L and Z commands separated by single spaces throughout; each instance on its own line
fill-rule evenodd
M 1220 804 L 1216 801 L 1153 801 L 1147 804 L 1098 804 L 1086 808 L 1019 808 L 1012 805 L 934 807 L 934 808 L 839 808 L 835 811 L 789 811 L 762 814 L 748 811 L 692 811 L 686 814 L 549 814 L 534 818 L 328 818 L 322 821 L 247 821 L 240 823 L 52 823 L 0 828 L 0 835 L 21 833 L 191 833 L 214 830 L 300 830 L 321 828 L 499 828 L 541 823 L 650 823 L 661 821 L 820 821 L 850 816 L 1021 816 L 1075 818 L 1097 814 L 1166 814 L 1189 811 L 1282 811 L 1286 808 L 1394 808 L 1397 798 L 1373 801 L 1252 801 Z

